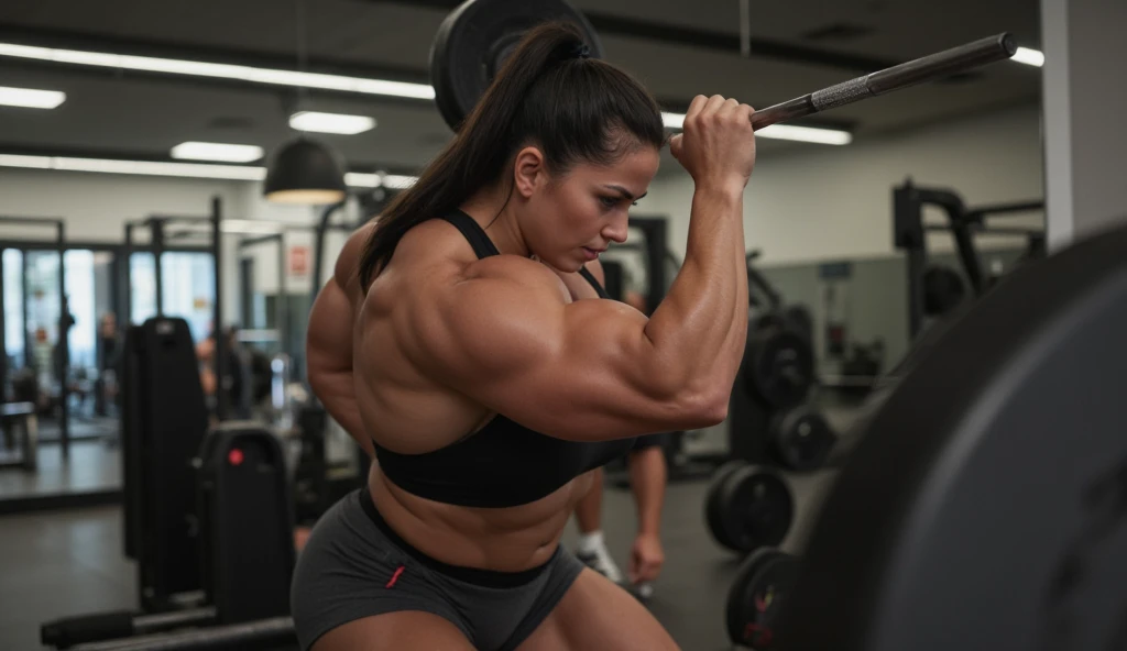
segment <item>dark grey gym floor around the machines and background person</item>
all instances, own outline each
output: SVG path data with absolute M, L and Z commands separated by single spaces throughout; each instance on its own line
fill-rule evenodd
M 805 539 L 811 508 L 833 471 L 791 476 L 799 512 L 783 549 Z M 724 607 L 739 559 L 720 549 L 703 520 L 707 482 L 668 487 L 663 517 L 666 562 L 649 608 L 686 651 L 728 650 Z M 607 489 L 607 544 L 627 567 L 635 509 L 629 491 Z M 569 528 L 565 544 L 575 541 Z M 39 624 L 63 616 L 136 607 L 136 578 L 122 553 L 121 508 L 11 515 L 0 518 L 0 649 L 41 649 Z

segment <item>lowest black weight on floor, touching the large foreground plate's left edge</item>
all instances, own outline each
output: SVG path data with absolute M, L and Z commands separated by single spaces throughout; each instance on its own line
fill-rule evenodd
M 733 644 L 773 649 L 774 623 L 798 577 L 798 559 L 774 549 L 753 552 L 728 590 L 726 619 Z

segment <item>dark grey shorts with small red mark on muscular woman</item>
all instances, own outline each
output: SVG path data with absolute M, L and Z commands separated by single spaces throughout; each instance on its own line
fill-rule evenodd
M 584 567 L 562 545 L 523 572 L 447 565 L 400 538 L 365 488 L 313 527 L 294 570 L 291 610 L 303 651 L 343 624 L 402 610 L 447 619 L 480 651 L 509 650 L 548 617 Z

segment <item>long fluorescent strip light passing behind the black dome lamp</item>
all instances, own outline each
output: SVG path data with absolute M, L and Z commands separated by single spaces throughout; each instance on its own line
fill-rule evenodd
M 266 168 L 255 166 L 174 163 L 45 155 L 0 154 L 0 167 L 240 181 L 260 181 L 266 178 Z M 416 180 L 418 180 L 416 177 L 400 175 L 361 172 L 348 172 L 345 175 L 345 184 L 354 188 L 385 187 L 403 189 L 414 185 Z

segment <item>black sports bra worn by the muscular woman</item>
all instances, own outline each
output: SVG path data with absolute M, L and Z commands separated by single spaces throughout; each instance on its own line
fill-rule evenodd
M 479 259 L 499 255 L 485 230 L 465 213 L 455 211 L 442 219 L 465 235 Z M 579 273 L 600 297 L 607 297 L 587 269 Z M 625 454 L 633 442 L 564 440 L 498 413 L 477 432 L 424 454 L 399 454 L 374 445 L 380 470 L 403 490 L 444 503 L 500 508 L 547 497 L 576 476 Z

